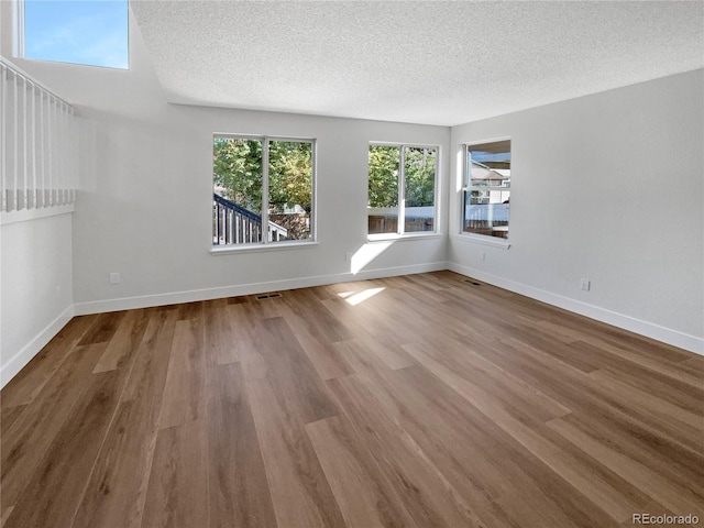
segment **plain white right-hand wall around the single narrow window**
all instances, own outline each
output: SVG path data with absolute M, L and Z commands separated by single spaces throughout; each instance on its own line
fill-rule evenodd
M 509 136 L 512 245 L 454 234 L 451 267 L 702 352 L 703 79 L 697 70 L 453 128 L 450 229 L 460 230 L 460 145 Z

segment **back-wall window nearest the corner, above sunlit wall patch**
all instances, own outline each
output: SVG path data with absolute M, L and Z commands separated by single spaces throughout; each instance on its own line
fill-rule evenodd
M 436 232 L 438 147 L 372 144 L 369 163 L 369 234 Z

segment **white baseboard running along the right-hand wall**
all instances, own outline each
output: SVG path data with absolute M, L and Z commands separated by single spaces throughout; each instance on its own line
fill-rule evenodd
M 481 272 L 479 270 L 463 266 L 454 262 L 448 263 L 448 270 L 461 275 L 465 275 L 468 277 L 474 277 L 484 283 L 498 286 L 499 288 L 508 289 L 509 292 L 525 295 L 526 297 L 530 297 L 531 299 L 557 306 L 558 308 L 564 308 L 565 310 L 579 314 L 584 317 L 588 317 L 590 319 L 595 319 L 597 321 L 623 328 L 624 330 L 628 330 L 630 332 L 638 333 L 640 336 L 645 336 L 647 338 L 651 338 L 657 341 L 671 344 L 673 346 L 679 346 L 680 349 L 689 350 L 690 352 L 694 352 L 695 354 L 704 355 L 704 339 L 697 338 L 696 336 L 690 336 L 688 333 L 661 327 L 652 322 L 636 319 L 630 316 L 625 316 L 623 314 L 600 308 L 597 306 L 582 302 L 580 300 L 552 294 L 543 289 L 534 288 L 532 286 L 527 286 L 514 280 L 508 280 L 506 278 L 492 275 L 491 273 Z

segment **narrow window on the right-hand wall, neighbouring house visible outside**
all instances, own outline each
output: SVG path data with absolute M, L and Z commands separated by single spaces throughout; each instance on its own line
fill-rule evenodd
M 464 146 L 462 231 L 508 239 L 510 140 Z

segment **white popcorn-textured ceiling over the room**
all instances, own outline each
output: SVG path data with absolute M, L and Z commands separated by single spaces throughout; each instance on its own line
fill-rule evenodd
M 704 67 L 704 2 L 131 1 L 170 102 L 453 125 Z

